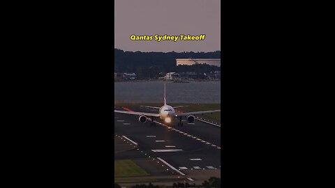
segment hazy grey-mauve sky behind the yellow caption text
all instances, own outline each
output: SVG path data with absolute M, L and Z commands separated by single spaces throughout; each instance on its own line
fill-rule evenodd
M 221 50 L 220 0 L 115 0 L 114 47 L 142 52 Z M 206 34 L 204 40 L 134 41 L 130 36 Z M 180 38 L 180 37 L 179 37 Z

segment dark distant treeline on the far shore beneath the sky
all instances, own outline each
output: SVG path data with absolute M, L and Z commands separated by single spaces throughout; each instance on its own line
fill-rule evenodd
M 176 58 L 221 58 L 221 52 L 124 52 L 114 49 L 114 72 L 135 72 L 140 79 L 157 78 L 160 72 L 211 72 L 214 65 L 176 65 Z

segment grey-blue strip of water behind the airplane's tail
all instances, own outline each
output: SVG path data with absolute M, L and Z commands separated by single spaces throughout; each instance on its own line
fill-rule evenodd
M 114 82 L 114 102 L 162 102 L 164 81 Z M 221 103 L 221 81 L 166 82 L 167 103 Z

